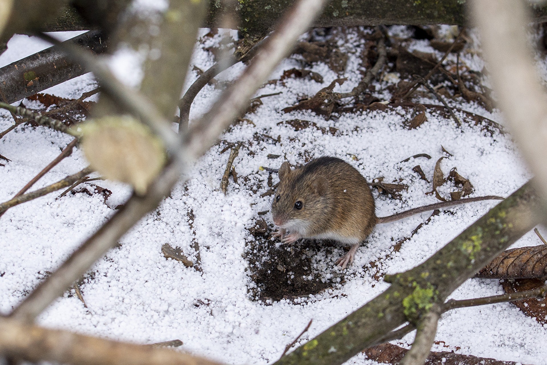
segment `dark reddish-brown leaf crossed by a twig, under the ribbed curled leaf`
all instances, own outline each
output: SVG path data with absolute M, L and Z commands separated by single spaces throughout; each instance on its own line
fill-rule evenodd
M 502 282 L 505 293 L 518 293 L 528 290 L 537 289 L 544 285 L 545 281 L 539 279 L 517 279 L 504 280 Z M 516 300 L 511 302 L 528 317 L 536 318 L 538 323 L 545 325 L 547 323 L 547 298 L 536 299 L 530 298 L 525 300 Z

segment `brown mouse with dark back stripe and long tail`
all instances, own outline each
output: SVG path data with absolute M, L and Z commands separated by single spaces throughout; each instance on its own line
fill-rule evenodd
M 353 262 L 359 244 L 377 223 L 398 221 L 418 213 L 467 202 L 503 199 L 478 196 L 438 202 L 388 217 L 376 217 L 374 198 L 366 179 L 346 161 L 324 156 L 304 166 L 279 169 L 279 185 L 272 201 L 272 218 L 279 227 L 274 236 L 283 244 L 300 238 L 335 240 L 350 245 L 350 251 L 336 260 L 344 269 Z

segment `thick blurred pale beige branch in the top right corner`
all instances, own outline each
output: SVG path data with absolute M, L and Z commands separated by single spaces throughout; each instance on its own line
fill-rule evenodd
M 529 44 L 528 9 L 524 2 L 514 0 L 473 0 L 467 4 L 480 31 L 497 104 L 535 176 L 534 184 L 547 201 L 547 95 L 539 83 Z

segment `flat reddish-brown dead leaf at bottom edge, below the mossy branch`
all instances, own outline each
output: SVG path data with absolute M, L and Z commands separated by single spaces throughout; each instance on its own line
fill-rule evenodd
M 392 344 L 381 344 L 364 350 L 365 355 L 377 362 L 397 364 L 408 350 Z M 432 351 L 425 365 L 516 365 L 511 361 L 499 361 L 493 358 L 476 357 L 472 355 L 455 354 L 448 351 Z

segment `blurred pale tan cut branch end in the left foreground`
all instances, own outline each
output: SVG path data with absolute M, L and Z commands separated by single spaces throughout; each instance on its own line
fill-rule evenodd
M 129 183 L 139 195 L 165 164 L 164 146 L 147 126 L 129 116 L 104 117 L 79 124 L 82 148 L 93 169 Z

